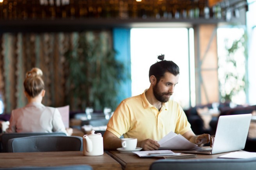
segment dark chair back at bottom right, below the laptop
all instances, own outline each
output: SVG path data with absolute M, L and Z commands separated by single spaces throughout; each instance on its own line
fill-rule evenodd
M 256 158 L 249 159 L 160 159 L 150 165 L 149 170 L 254 170 Z

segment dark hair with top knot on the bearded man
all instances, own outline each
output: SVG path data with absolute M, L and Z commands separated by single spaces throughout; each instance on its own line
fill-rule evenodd
M 161 61 L 157 61 L 155 64 L 151 65 L 149 68 L 149 78 L 151 75 L 154 75 L 156 77 L 156 82 L 158 82 L 164 77 L 165 72 L 170 72 L 175 76 L 180 74 L 178 65 L 173 61 L 164 60 L 164 54 L 159 55 L 157 58 Z

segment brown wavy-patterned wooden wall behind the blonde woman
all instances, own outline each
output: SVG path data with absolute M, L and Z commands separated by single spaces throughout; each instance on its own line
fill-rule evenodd
M 66 80 L 71 67 L 66 59 L 67 49 L 79 43 L 80 36 L 92 41 L 103 36 L 103 49 L 112 45 L 111 31 L 85 33 L 3 33 L 0 34 L 0 93 L 3 95 L 5 112 L 27 104 L 23 81 L 27 71 L 39 67 L 43 71 L 46 95 L 43 104 L 52 107 L 70 105 L 71 110 L 84 110 L 84 99 L 76 98 Z M 98 43 L 99 43 L 98 42 Z M 103 50 L 104 51 L 104 50 Z M 82 74 L 82 73 L 81 73 Z

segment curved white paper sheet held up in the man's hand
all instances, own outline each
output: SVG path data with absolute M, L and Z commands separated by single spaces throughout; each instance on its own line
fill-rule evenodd
M 168 133 L 165 137 L 158 141 L 159 149 L 180 149 L 180 150 L 196 150 L 201 149 L 196 144 L 191 143 L 182 135 L 174 132 Z

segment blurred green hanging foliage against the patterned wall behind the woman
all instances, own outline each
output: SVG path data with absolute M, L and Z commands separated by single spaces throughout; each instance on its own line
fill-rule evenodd
M 77 108 L 116 108 L 117 85 L 126 79 L 123 63 L 115 59 L 116 51 L 108 43 L 107 34 L 80 33 L 73 47 L 66 52 L 69 63 L 69 103 Z M 71 100 L 73 98 L 73 101 Z M 75 105 L 75 104 L 74 104 Z M 73 105 L 73 106 L 74 106 Z

